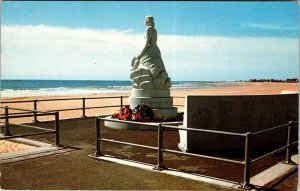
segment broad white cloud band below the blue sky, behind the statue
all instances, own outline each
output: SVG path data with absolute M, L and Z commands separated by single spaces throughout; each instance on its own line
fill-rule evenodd
M 2 26 L 2 78 L 129 80 L 143 34 L 131 29 Z M 175 80 L 298 76 L 298 39 L 159 35 Z

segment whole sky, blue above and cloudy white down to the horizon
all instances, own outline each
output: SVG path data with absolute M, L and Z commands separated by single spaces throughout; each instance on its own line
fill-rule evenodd
M 2 78 L 129 80 L 146 15 L 174 80 L 298 77 L 296 2 L 11 1 L 2 2 Z

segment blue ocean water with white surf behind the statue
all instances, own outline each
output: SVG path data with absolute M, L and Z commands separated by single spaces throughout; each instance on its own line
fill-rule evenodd
M 228 86 L 232 82 L 173 81 L 171 89 Z M 130 81 L 106 80 L 1 80 L 1 97 L 129 93 Z

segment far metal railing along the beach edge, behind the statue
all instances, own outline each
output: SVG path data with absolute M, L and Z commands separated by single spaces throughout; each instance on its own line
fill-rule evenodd
M 74 100 L 81 100 L 82 107 L 80 108 L 66 108 L 66 109 L 56 109 L 56 110 L 48 110 L 51 111 L 74 111 L 74 110 L 82 110 L 81 117 L 86 116 L 86 110 L 88 109 L 101 109 L 101 108 L 111 108 L 111 107 L 123 107 L 124 105 L 124 98 L 129 98 L 129 96 L 110 96 L 110 97 L 77 97 L 77 98 L 55 98 L 55 99 L 34 99 L 34 100 L 21 100 L 21 101 L 1 101 L 1 104 L 15 104 L 15 103 L 33 103 L 33 110 L 38 109 L 38 103 L 40 102 L 51 102 L 51 101 L 74 101 Z M 180 96 L 175 96 L 174 98 L 185 98 Z M 108 105 L 108 106 L 93 106 L 87 107 L 86 101 L 87 100 L 95 100 L 95 99 L 120 99 L 119 105 Z M 184 106 L 184 105 L 174 105 L 174 106 Z M 28 110 L 28 113 L 31 113 L 32 110 Z M 15 113 L 19 114 L 19 113 Z M 24 113 L 23 113 L 24 114 Z M 33 115 L 33 122 L 38 122 L 38 115 Z

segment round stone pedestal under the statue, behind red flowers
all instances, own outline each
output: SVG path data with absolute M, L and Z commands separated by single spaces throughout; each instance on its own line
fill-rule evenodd
M 129 104 L 131 108 L 135 108 L 139 104 L 150 106 L 153 109 L 154 119 L 159 114 L 160 119 L 172 120 L 176 119 L 178 114 L 178 109 L 173 107 L 170 89 L 142 90 L 133 88 L 129 97 Z

